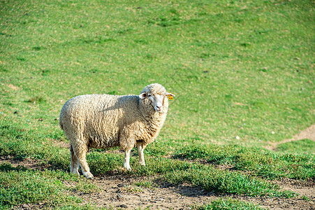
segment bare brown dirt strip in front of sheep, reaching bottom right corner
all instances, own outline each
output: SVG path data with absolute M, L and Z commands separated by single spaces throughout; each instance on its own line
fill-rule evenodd
M 101 193 L 81 195 L 84 202 L 96 204 L 97 207 L 114 207 L 126 209 L 191 209 L 192 206 L 200 206 L 219 198 L 233 198 L 246 202 L 253 202 L 268 209 L 314 209 L 314 186 L 298 189 L 299 193 L 307 192 L 309 201 L 301 197 L 292 199 L 279 199 L 270 197 L 247 197 L 238 195 L 222 195 L 207 193 L 200 188 L 193 188 L 188 184 L 172 186 L 165 183 L 154 189 L 140 188 L 140 192 L 124 190 L 125 186 L 133 186 L 133 183 L 147 178 L 133 178 L 123 176 L 96 177 L 93 183 L 100 186 Z M 281 183 L 278 183 L 281 184 Z M 284 190 L 297 191 L 295 186 L 286 185 Z M 302 194 L 301 194 L 302 195 Z

